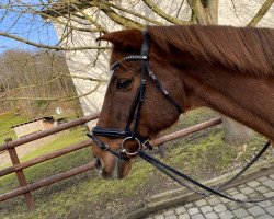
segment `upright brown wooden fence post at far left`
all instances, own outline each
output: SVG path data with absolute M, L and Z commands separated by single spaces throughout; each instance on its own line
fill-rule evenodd
M 12 139 L 7 138 L 7 139 L 4 139 L 4 141 L 5 141 L 7 146 L 8 146 L 9 142 L 12 141 Z M 10 154 L 12 164 L 13 165 L 20 164 L 19 157 L 18 157 L 15 148 L 9 148 L 8 147 L 8 152 Z M 23 173 L 23 170 L 16 171 L 15 173 L 16 173 L 16 176 L 18 176 L 20 187 L 26 186 L 27 182 L 25 180 L 25 175 Z M 24 198 L 25 198 L 25 203 L 26 203 L 28 209 L 34 210 L 35 204 L 34 204 L 34 198 L 33 198 L 32 194 L 31 193 L 25 193 Z

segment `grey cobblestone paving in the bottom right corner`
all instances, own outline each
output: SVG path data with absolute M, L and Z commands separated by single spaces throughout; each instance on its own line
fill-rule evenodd
M 260 177 L 226 192 L 238 199 L 274 196 L 274 174 Z M 217 196 L 170 208 L 147 219 L 274 219 L 274 201 L 240 205 Z

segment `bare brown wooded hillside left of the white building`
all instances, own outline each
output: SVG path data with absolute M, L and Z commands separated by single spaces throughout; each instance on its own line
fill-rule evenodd
M 76 95 L 61 54 L 41 49 L 7 50 L 0 56 L 0 65 L 2 111 L 21 108 L 37 115 L 37 110 L 56 107 L 55 100 Z

